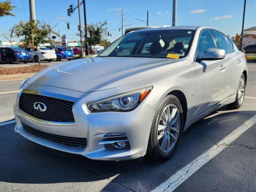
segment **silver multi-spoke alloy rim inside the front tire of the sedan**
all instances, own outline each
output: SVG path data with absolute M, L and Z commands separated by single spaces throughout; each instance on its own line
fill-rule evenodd
M 158 122 L 158 146 L 164 153 L 174 148 L 180 132 L 180 114 L 174 104 L 167 105 Z

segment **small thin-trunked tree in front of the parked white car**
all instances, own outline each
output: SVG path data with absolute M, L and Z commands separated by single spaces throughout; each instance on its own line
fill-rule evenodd
M 21 37 L 20 42 L 22 42 L 25 47 L 31 44 L 33 50 L 36 48 L 39 65 L 40 56 L 38 46 L 49 41 L 49 33 L 57 34 L 53 31 L 50 24 L 46 24 L 44 21 L 40 22 L 34 20 L 28 22 L 20 21 L 20 23 L 13 26 L 10 31 L 13 31 L 18 38 Z

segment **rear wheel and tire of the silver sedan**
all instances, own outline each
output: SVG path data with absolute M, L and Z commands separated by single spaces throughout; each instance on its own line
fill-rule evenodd
M 246 87 L 246 79 L 244 74 L 241 75 L 239 83 L 238 83 L 238 89 L 236 92 L 236 100 L 233 103 L 230 103 L 227 105 L 229 109 L 238 109 L 242 106 L 244 102 L 244 95 L 245 95 L 245 87 Z

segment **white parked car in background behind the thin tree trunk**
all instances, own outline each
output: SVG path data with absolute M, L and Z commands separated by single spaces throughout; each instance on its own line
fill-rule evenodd
M 35 62 L 38 62 L 38 55 L 36 48 L 33 49 L 31 47 L 26 48 L 27 51 L 31 52 L 31 58 Z M 47 60 L 48 62 L 52 62 L 52 60 L 56 59 L 57 56 L 55 54 L 55 51 L 48 49 L 47 47 L 38 47 L 39 57 L 40 60 Z

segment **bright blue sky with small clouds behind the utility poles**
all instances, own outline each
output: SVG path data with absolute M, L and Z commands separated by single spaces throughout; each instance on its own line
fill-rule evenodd
M 0 18 L 0 40 L 6 41 L 1 34 L 8 33 L 19 20 L 29 19 L 28 2 L 28 0 L 12 0 L 12 4 L 17 6 L 13 11 L 15 17 Z M 230 36 L 241 32 L 243 0 L 177 0 L 177 2 L 178 26 L 212 26 Z M 77 0 L 35 0 L 35 4 L 37 20 L 45 20 L 52 26 L 57 24 L 55 30 L 59 29 L 61 35 L 66 34 L 68 41 L 79 40 L 76 36 L 79 23 L 78 10 L 71 17 L 67 15 L 67 8 L 70 4 L 76 6 Z M 80 8 L 83 11 L 83 6 Z M 171 25 L 172 22 L 172 0 L 86 0 L 87 23 L 107 20 L 108 30 L 112 34 L 108 39 L 112 42 L 122 35 L 118 30 L 122 24 L 122 8 L 125 28 L 145 26 L 146 24 L 136 19 L 146 20 L 147 10 L 150 26 Z M 84 24 L 83 15 L 81 18 Z M 247 0 L 244 28 L 256 26 L 255 18 L 256 0 Z M 70 22 L 70 30 L 67 29 L 66 22 Z M 14 40 L 18 39 L 14 38 Z

